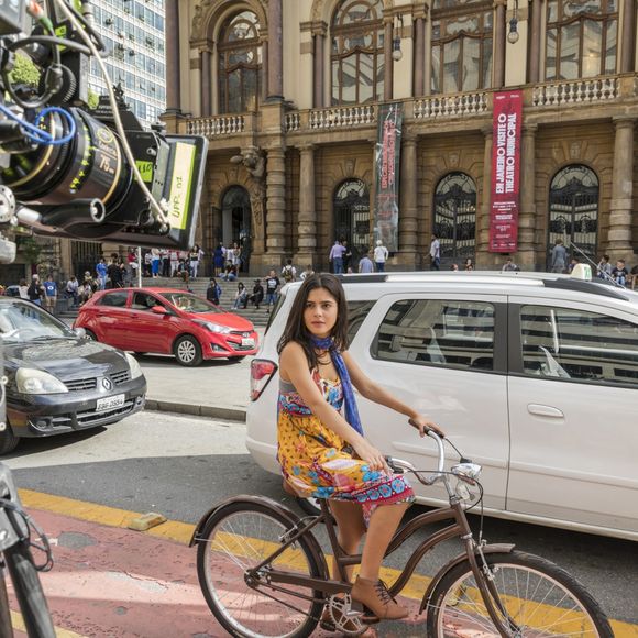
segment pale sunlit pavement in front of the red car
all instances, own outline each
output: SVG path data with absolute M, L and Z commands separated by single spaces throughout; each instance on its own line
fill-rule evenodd
M 263 339 L 264 329 L 257 328 L 257 333 Z M 148 383 L 146 409 L 245 421 L 251 360 L 220 359 L 185 367 L 173 356 L 140 356 Z

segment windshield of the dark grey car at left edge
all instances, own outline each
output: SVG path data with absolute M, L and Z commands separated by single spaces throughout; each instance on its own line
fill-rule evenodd
M 0 305 L 0 334 L 7 342 L 24 343 L 44 339 L 75 338 L 64 323 L 33 304 Z

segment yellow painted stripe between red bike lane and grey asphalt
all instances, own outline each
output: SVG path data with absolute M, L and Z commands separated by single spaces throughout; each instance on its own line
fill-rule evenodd
M 22 504 L 25 507 L 62 514 L 64 516 L 86 520 L 88 522 L 96 522 L 98 525 L 106 525 L 108 527 L 125 528 L 132 519 L 142 516 L 138 512 L 118 509 L 106 505 L 96 505 L 94 503 L 75 501 L 65 496 L 54 496 L 52 494 L 33 492 L 31 490 L 19 490 L 19 494 Z M 187 544 L 190 541 L 194 531 L 194 525 L 179 522 L 177 520 L 168 520 L 147 531 L 141 531 L 138 534 L 145 534 L 163 540 L 172 540 L 174 542 Z M 326 558 L 327 560 L 330 560 L 329 556 Z M 387 583 L 393 583 L 399 574 L 399 570 L 382 568 L 381 576 Z M 414 574 L 406 587 L 403 590 L 402 596 L 420 601 L 424 596 L 424 592 L 430 583 L 430 580 L 431 579 L 428 576 Z M 610 624 L 616 638 L 638 638 L 638 625 L 631 625 L 620 620 L 610 620 Z

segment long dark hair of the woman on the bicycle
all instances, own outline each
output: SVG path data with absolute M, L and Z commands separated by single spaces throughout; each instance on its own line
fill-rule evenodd
M 306 310 L 308 296 L 317 288 L 326 288 L 326 290 L 328 290 L 337 301 L 337 323 L 334 323 L 330 333 L 330 337 L 332 337 L 332 341 L 334 342 L 334 348 L 339 351 L 343 351 L 348 348 L 348 304 L 345 302 L 345 292 L 343 290 L 341 282 L 334 275 L 329 273 L 315 273 L 308 275 L 304 279 L 304 283 L 293 301 L 293 308 L 290 308 L 286 329 L 277 343 L 277 353 L 282 354 L 284 348 L 286 348 L 290 342 L 298 343 L 306 353 L 310 370 L 317 367 L 319 361 L 317 353 L 315 352 L 315 346 L 310 340 L 311 334 L 304 322 L 304 311 Z

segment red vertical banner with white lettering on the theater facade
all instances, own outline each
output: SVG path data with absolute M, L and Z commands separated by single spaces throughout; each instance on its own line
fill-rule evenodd
M 518 246 L 522 91 L 494 94 L 493 127 L 490 252 L 513 253 Z

